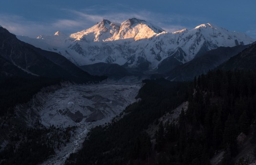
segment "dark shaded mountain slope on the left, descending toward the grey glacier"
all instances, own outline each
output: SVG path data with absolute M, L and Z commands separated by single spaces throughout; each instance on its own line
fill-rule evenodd
M 1 76 L 61 77 L 74 81 L 100 80 L 82 71 L 64 56 L 26 44 L 0 27 Z

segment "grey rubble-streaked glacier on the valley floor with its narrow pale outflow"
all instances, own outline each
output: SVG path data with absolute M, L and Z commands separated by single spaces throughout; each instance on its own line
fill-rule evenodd
M 60 148 L 60 151 L 56 149 L 56 155 L 41 165 L 63 165 L 69 154 L 81 148 L 91 128 L 110 122 L 126 106 L 136 101 L 135 97 L 141 86 L 141 83 L 69 84 L 55 92 L 39 92 L 30 101 L 29 106 L 18 106 L 17 110 L 23 111 L 23 115 L 26 114 L 28 124 L 34 121 L 33 118 L 38 117 L 46 127 L 77 126 L 70 143 Z

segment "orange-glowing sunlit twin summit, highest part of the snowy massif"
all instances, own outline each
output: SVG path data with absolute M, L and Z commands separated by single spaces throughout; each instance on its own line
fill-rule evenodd
M 70 37 L 86 42 L 105 42 L 120 39 L 134 39 L 136 41 L 150 38 L 162 32 L 165 32 L 162 28 L 136 18 L 128 19 L 121 24 L 103 19 L 91 28 L 73 33 Z

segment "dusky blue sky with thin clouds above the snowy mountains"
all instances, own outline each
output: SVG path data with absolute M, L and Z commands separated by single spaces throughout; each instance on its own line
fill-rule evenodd
M 36 37 L 136 17 L 168 32 L 210 22 L 256 38 L 255 8 L 256 0 L 0 0 L 0 25 Z

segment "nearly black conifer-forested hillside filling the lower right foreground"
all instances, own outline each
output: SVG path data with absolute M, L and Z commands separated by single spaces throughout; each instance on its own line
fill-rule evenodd
M 243 132 L 250 145 L 256 144 L 254 72 L 218 70 L 193 83 L 144 82 L 141 100 L 127 107 L 120 120 L 91 130 L 66 165 L 210 165 L 222 151 L 221 164 L 246 163 L 245 157 L 236 157 L 243 149 L 237 137 Z M 181 111 L 177 124 L 158 123 L 185 100 L 189 108 Z M 145 132 L 149 124 L 159 127 L 153 138 Z M 251 155 L 248 161 L 253 159 Z

